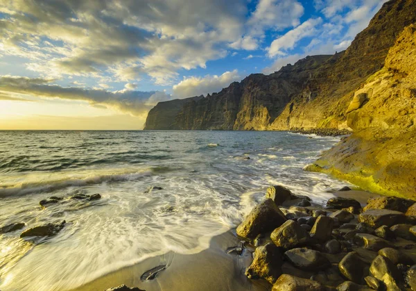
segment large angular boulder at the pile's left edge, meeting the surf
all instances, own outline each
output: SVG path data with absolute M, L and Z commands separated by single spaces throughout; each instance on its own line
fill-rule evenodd
M 252 209 L 237 227 L 236 233 L 243 238 L 254 240 L 260 233 L 272 231 L 284 222 L 286 222 L 284 214 L 272 199 L 267 199 Z

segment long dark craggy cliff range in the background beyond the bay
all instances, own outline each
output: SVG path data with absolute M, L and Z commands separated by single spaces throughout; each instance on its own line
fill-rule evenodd
M 159 103 L 145 129 L 347 128 L 355 90 L 383 67 L 399 33 L 414 22 L 415 0 L 388 1 L 346 51 L 308 57 L 268 76 L 250 75 L 205 98 L 169 101 L 173 108 Z

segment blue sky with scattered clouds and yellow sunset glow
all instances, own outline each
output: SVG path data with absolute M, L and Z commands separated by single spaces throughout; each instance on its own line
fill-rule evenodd
M 347 49 L 386 0 L 0 0 L 0 130 L 141 129 L 159 101 Z

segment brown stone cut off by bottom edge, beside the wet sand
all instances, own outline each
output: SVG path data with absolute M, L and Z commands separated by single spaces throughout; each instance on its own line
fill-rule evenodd
M 288 274 L 279 276 L 272 291 L 326 291 L 321 283 L 305 278 L 299 278 Z

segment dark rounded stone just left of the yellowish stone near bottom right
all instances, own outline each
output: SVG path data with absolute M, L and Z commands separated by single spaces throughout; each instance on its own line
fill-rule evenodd
M 356 251 L 347 253 L 338 264 L 341 274 L 354 283 L 364 283 L 364 278 L 368 273 L 368 265 L 358 256 Z

